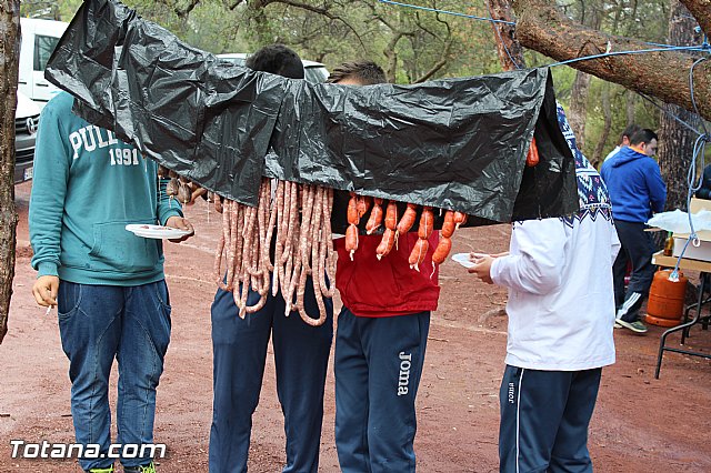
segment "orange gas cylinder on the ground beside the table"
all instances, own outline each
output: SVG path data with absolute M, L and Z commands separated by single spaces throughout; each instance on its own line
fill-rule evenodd
M 649 289 L 645 320 L 652 325 L 675 326 L 681 323 L 689 279 L 679 271 L 679 281 L 670 281 L 671 272 L 670 269 L 657 271 Z

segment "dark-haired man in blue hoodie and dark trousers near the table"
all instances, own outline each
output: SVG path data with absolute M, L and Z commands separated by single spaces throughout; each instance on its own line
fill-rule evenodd
M 612 269 L 618 305 L 615 324 L 635 333 L 647 332 L 647 326 L 639 320 L 639 310 L 654 278 L 652 254 L 655 248 L 644 229 L 654 212 L 664 210 L 667 201 L 667 185 L 652 158 L 657 153 L 657 133 L 650 129 L 633 133 L 630 145 L 605 161 L 600 170 L 610 192 L 612 217 L 622 243 Z M 625 292 L 628 261 L 632 263 L 632 273 Z

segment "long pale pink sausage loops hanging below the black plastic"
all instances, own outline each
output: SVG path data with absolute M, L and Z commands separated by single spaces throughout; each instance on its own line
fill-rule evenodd
M 222 202 L 222 234 L 213 264 L 216 282 L 232 292 L 241 318 L 262 309 L 271 290 L 274 296 L 281 291 L 287 315 L 298 311 L 306 323 L 321 325 L 327 318 L 323 298 L 333 296 L 336 281 L 333 190 L 278 181 L 273 200 L 271 195 L 271 180 L 263 179 L 257 208 Z M 269 254 L 272 238 L 273 261 Z M 304 306 L 309 275 L 318 316 L 308 314 Z M 253 303 L 250 288 L 259 295 Z

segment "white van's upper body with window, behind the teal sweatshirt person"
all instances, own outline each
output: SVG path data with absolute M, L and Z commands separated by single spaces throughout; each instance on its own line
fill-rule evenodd
M 59 89 L 44 79 L 44 67 L 69 27 L 63 21 L 20 18 L 20 74 L 18 89 L 43 107 Z

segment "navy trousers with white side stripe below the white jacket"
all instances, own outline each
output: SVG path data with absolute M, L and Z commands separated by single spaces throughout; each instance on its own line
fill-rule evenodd
M 507 365 L 501 381 L 502 473 L 592 472 L 588 425 L 602 369 L 538 371 Z

